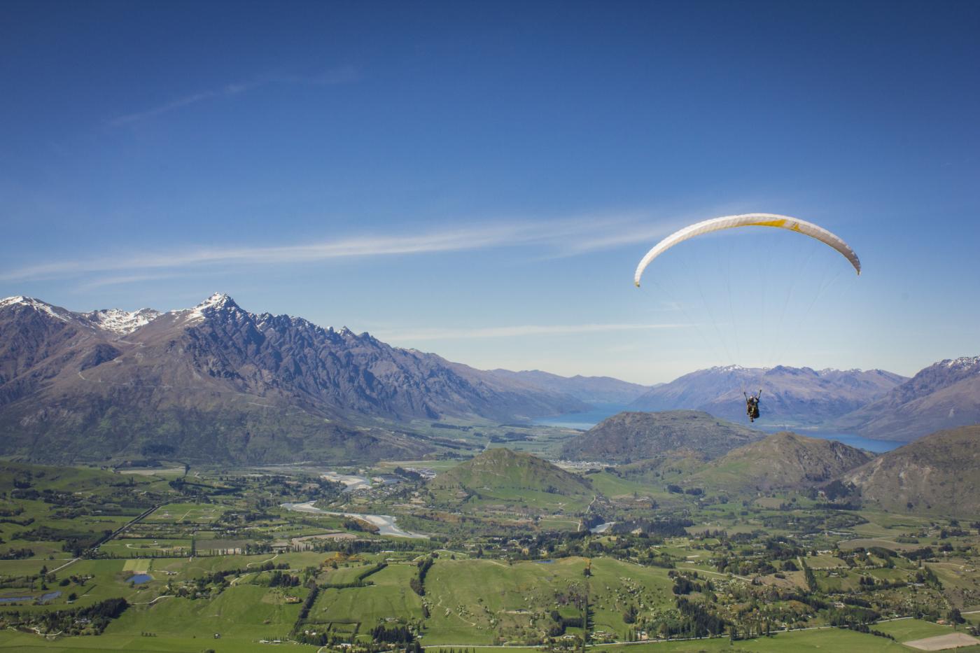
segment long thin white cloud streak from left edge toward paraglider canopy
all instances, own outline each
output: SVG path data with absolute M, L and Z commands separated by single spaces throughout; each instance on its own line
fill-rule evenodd
M 530 245 L 545 246 L 562 255 L 575 255 L 628 242 L 650 241 L 655 232 L 665 233 L 664 227 L 657 228 L 656 225 L 649 218 L 640 223 L 633 217 L 588 216 L 540 222 L 488 223 L 421 234 L 349 236 L 303 244 L 187 247 L 169 252 L 147 252 L 139 256 L 43 263 L 0 272 L 0 280 L 125 272 L 126 275 L 115 277 L 117 282 L 125 282 L 126 276 L 139 280 L 139 274 L 145 274 L 146 271 L 186 271 L 188 268 L 235 264 L 284 265 L 351 257 L 431 254 Z M 622 234 L 615 238 L 610 237 L 609 233 L 613 229 Z

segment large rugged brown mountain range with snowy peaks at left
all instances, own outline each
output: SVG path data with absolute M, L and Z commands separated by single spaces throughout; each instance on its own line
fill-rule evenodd
M 513 420 L 583 408 L 368 333 L 248 313 L 223 294 L 168 313 L 0 300 L 4 455 L 376 459 L 431 445 L 352 420 Z

